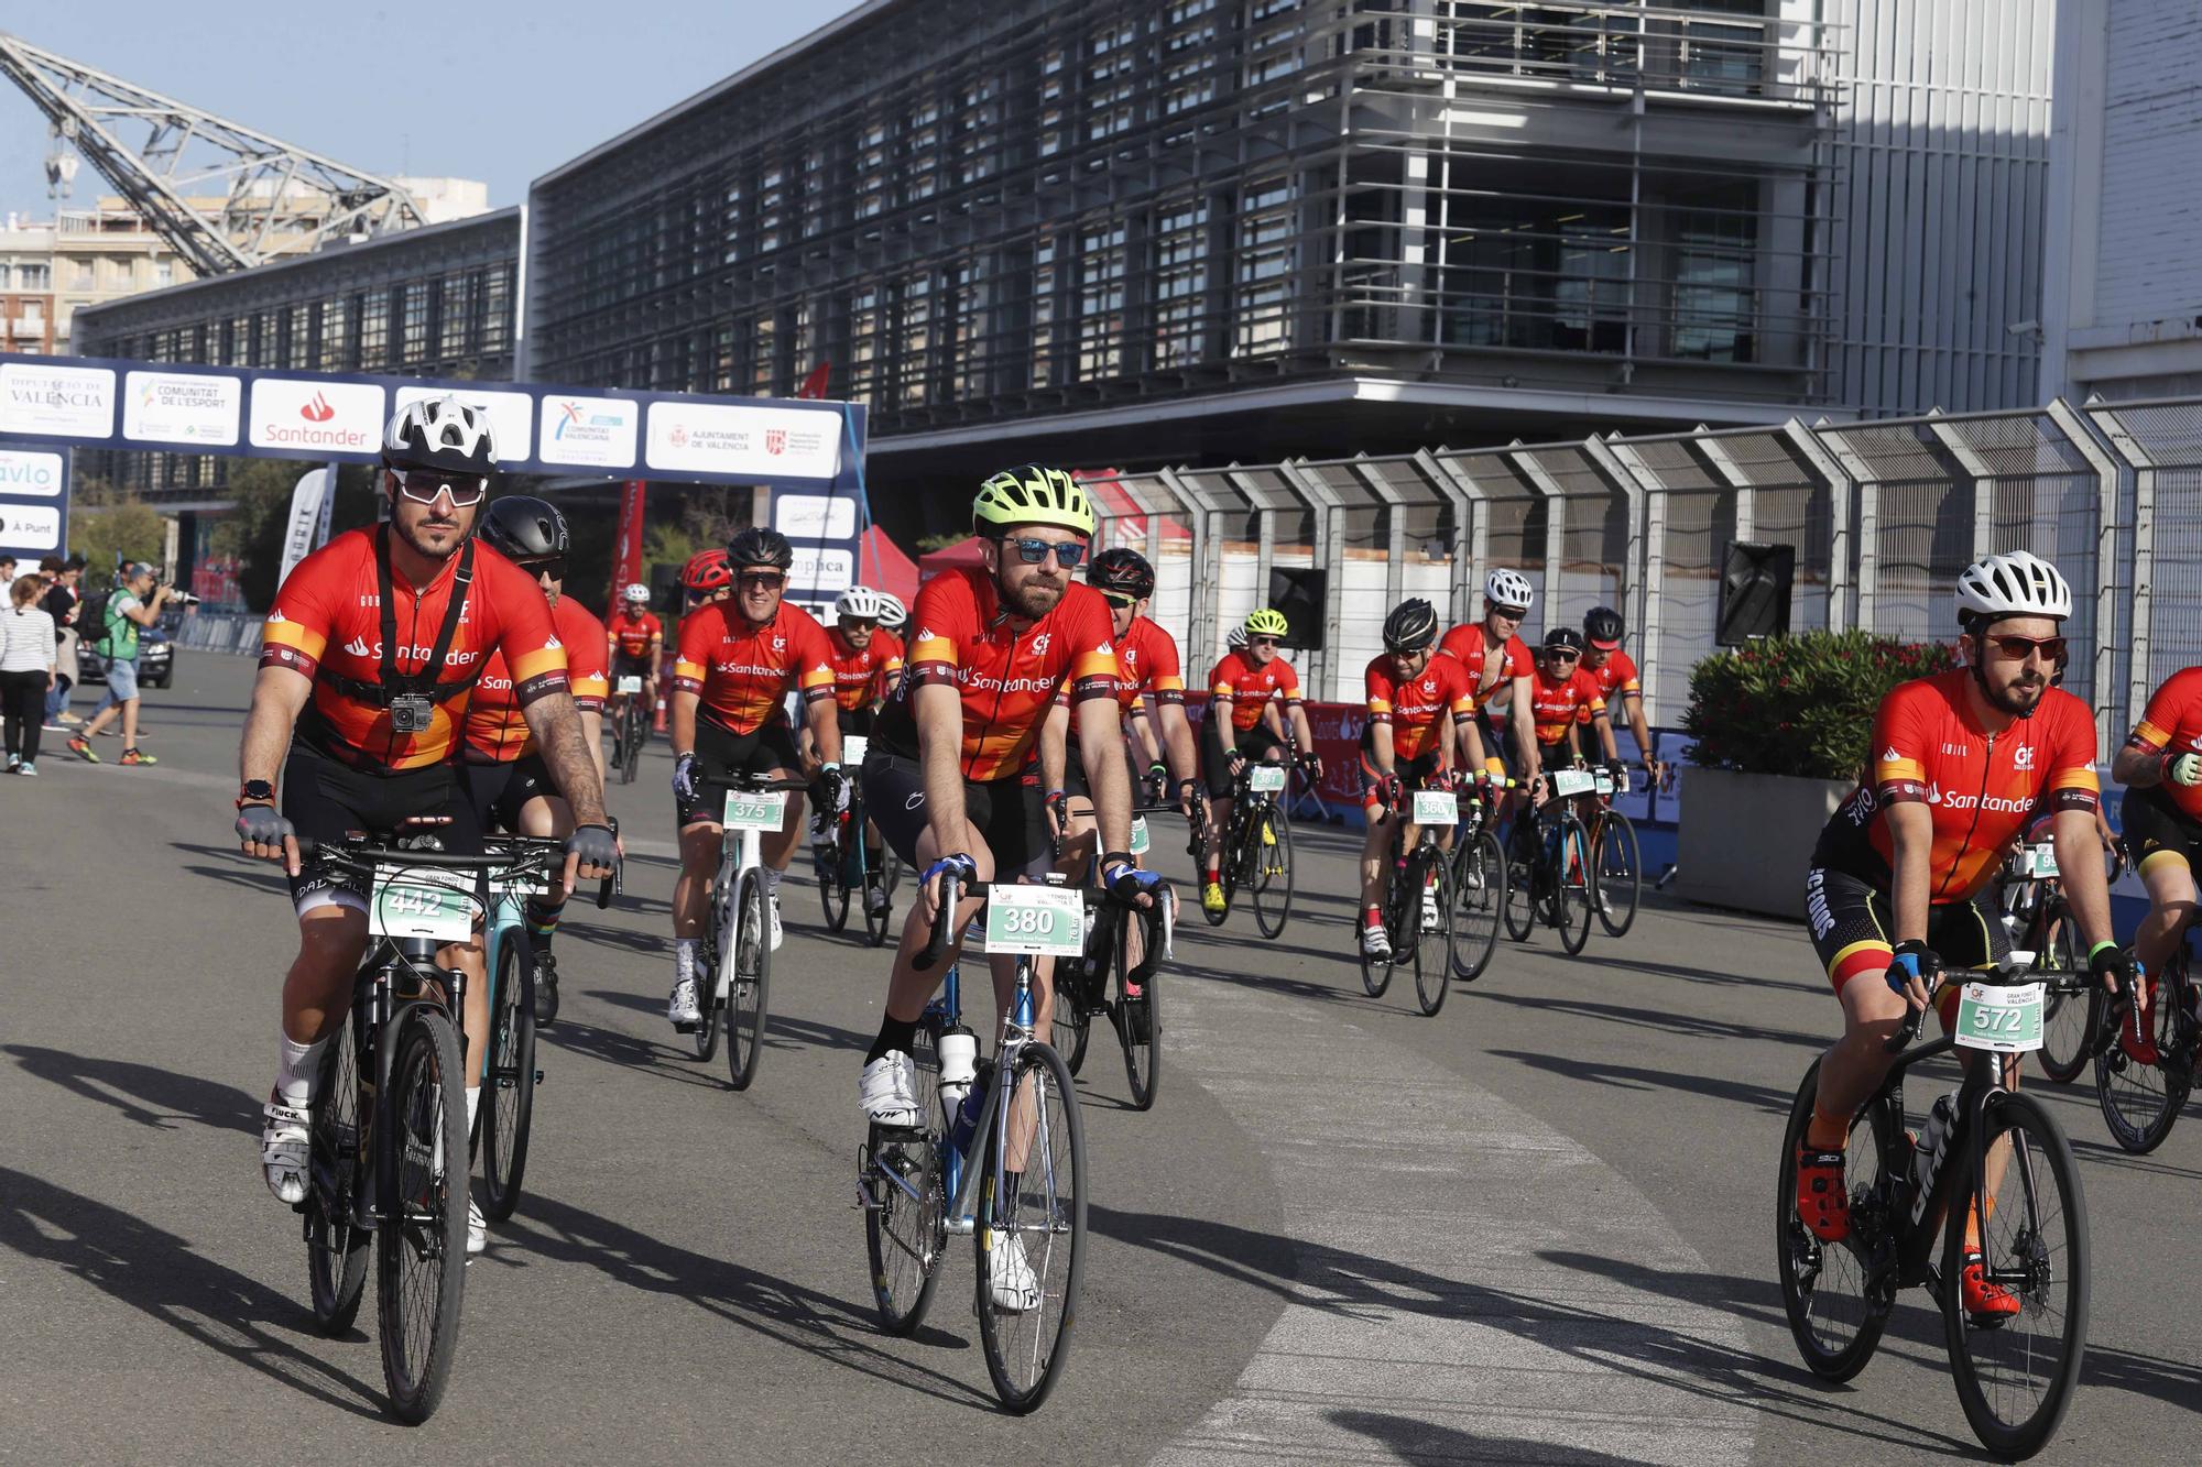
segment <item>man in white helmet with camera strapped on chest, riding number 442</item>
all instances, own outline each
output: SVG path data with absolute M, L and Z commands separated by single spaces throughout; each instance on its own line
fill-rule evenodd
M 238 751 L 236 830 L 244 855 L 284 863 L 297 910 L 275 1090 L 260 1132 L 269 1189 L 284 1203 L 306 1196 L 321 1046 L 344 1022 L 368 943 L 368 894 L 355 877 L 302 861 L 297 837 L 390 837 L 429 822 L 443 826 L 447 850 L 480 855 L 482 830 L 460 793 L 456 760 L 467 698 L 495 652 L 581 822 L 566 837 L 564 890 L 575 877 L 610 874 L 619 859 L 550 608 L 526 573 L 471 537 L 495 463 L 489 416 L 478 408 L 456 396 L 401 408 L 383 434 L 390 524 L 348 531 L 302 559 L 262 632 Z M 471 1121 L 489 1033 L 482 943 L 451 943 L 436 960 L 467 971 Z M 482 1247 L 480 1238 L 473 1209 L 469 1251 Z

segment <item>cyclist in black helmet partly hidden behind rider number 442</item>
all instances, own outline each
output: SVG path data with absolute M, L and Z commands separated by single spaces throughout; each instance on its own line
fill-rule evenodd
M 603 623 L 566 595 L 566 551 L 573 546 L 566 515 L 548 500 L 504 496 L 482 515 L 482 544 L 500 551 L 542 586 L 550 604 L 550 626 L 566 648 L 566 681 L 581 714 L 581 738 L 588 740 L 601 782 L 603 696 L 610 689 L 603 663 L 606 634 Z M 473 800 L 473 817 L 484 833 L 511 830 L 535 839 L 564 839 L 573 833 L 573 802 L 557 789 L 535 736 L 528 734 L 502 652 L 489 654 L 482 681 L 467 700 L 465 738 L 465 784 Z M 564 892 L 544 892 L 526 901 L 537 1022 L 557 1011 L 557 958 L 550 954 L 550 941 L 564 912 Z

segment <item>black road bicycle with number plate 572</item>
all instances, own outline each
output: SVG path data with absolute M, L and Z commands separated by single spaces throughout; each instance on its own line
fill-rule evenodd
M 2054 1434 L 2079 1381 L 2087 1203 L 2057 1119 L 2013 1088 L 2019 1060 L 2041 1044 L 2041 982 L 2017 965 L 1964 978 L 1951 1033 L 1900 1053 L 1918 1035 L 1922 1015 L 1911 1013 L 1887 1042 L 1900 1057 L 1850 1121 L 1843 1242 L 1821 1242 L 1797 1214 L 1819 1062 L 1806 1071 L 1781 1137 L 1775 1262 L 1797 1350 L 1830 1381 L 1865 1368 L 1900 1289 L 1933 1293 L 1966 1421 L 1991 1452 L 2021 1458 Z M 1960 1046 L 1973 1051 L 1964 1084 L 1936 1101 L 1925 1134 L 1907 1130 L 1905 1073 Z M 2017 1295 L 2015 1315 L 1964 1308 L 1975 1249 L 1984 1282 Z

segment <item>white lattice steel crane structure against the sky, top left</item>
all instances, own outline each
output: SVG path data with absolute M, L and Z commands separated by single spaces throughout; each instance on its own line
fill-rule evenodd
M 53 132 L 46 181 L 59 196 L 70 150 L 200 275 L 244 271 L 328 240 L 412 229 L 421 205 L 390 178 L 293 148 L 66 55 L 0 33 L 0 73 Z M 209 211 L 211 200 L 222 200 Z

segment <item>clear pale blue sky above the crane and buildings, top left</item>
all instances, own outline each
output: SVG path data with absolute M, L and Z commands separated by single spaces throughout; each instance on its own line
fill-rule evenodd
M 528 181 L 815 31 L 848 0 L 101 0 L 0 31 L 379 174 Z M 0 79 L 0 211 L 51 216 L 46 119 Z M 75 198 L 112 192 L 77 172 Z

